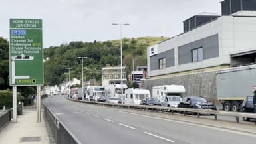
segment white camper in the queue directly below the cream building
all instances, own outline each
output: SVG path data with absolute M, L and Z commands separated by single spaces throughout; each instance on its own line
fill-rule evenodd
M 125 90 L 128 88 L 128 86 L 126 84 L 110 84 L 107 86 L 104 86 L 105 90 L 106 90 L 106 96 L 109 97 L 117 97 L 117 98 L 122 98 L 122 96 L 124 97 L 124 92 Z M 122 91 L 123 90 L 123 94 Z

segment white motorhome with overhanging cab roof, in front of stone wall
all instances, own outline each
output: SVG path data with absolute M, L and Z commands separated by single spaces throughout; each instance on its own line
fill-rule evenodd
M 162 100 L 164 96 L 182 96 L 185 92 L 185 87 L 182 85 L 163 85 L 154 86 L 152 88 L 152 96 Z

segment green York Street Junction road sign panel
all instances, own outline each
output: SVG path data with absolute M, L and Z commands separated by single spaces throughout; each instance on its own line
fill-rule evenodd
M 41 19 L 10 19 L 10 85 L 43 85 Z

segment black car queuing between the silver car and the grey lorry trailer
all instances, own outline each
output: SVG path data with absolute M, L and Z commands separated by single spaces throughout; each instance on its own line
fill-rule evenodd
M 182 102 L 178 105 L 178 108 L 193 108 L 193 109 L 212 109 L 216 110 L 216 106 L 213 103 L 208 102 L 205 98 L 199 96 L 187 96 L 182 98 Z M 182 112 L 180 112 L 182 113 Z M 197 114 L 197 113 L 192 113 Z

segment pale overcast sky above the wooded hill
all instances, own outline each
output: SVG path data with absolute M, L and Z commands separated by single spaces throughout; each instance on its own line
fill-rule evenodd
M 172 37 L 182 21 L 202 12 L 221 14 L 223 0 L 5 0 L 0 5 L 0 36 L 9 39 L 9 19 L 43 19 L 43 47 L 72 41 L 93 42 L 122 36 Z

